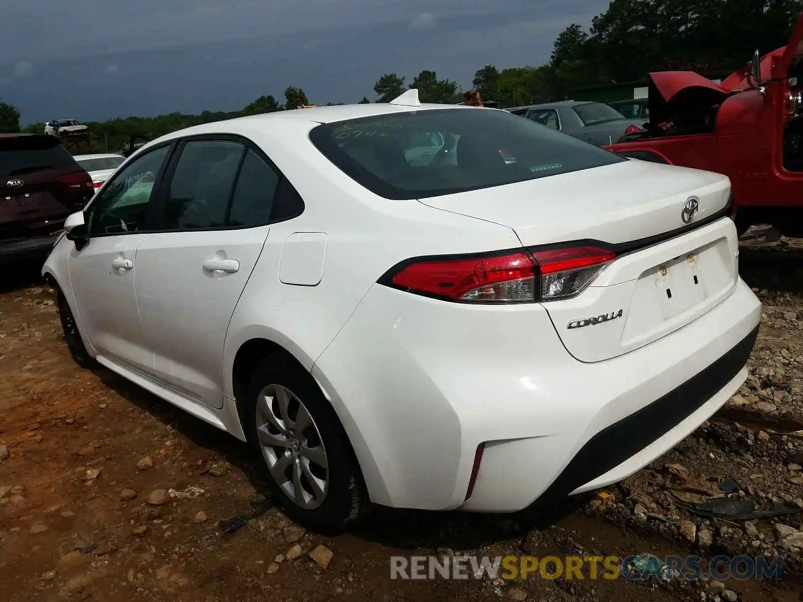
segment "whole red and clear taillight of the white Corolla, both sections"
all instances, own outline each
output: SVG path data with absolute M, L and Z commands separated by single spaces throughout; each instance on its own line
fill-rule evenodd
M 580 294 L 614 258 L 613 252 L 593 246 L 422 258 L 403 263 L 379 282 L 462 303 L 533 303 Z

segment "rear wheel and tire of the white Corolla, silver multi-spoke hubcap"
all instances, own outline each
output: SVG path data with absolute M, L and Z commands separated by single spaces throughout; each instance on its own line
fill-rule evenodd
M 275 502 L 297 523 L 342 531 L 367 510 L 365 484 L 340 420 L 312 376 L 286 356 L 267 356 L 251 375 L 246 430 Z

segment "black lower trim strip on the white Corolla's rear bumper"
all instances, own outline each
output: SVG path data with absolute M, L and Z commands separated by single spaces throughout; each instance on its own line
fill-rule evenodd
M 583 445 L 539 501 L 565 498 L 663 437 L 714 397 L 747 364 L 756 326 L 734 348 L 678 388 L 602 429 Z

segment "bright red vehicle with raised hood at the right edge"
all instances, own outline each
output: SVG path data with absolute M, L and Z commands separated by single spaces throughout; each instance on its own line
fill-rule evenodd
M 714 83 L 650 74 L 646 132 L 606 146 L 623 155 L 731 178 L 736 226 L 803 237 L 803 18 L 785 47 Z

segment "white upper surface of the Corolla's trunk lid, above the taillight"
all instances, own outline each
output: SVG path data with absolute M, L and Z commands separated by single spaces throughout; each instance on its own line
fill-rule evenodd
M 647 161 L 622 161 L 581 172 L 420 199 L 424 205 L 516 230 L 525 246 L 585 238 L 620 244 L 685 226 L 728 204 L 730 181 L 716 173 Z

